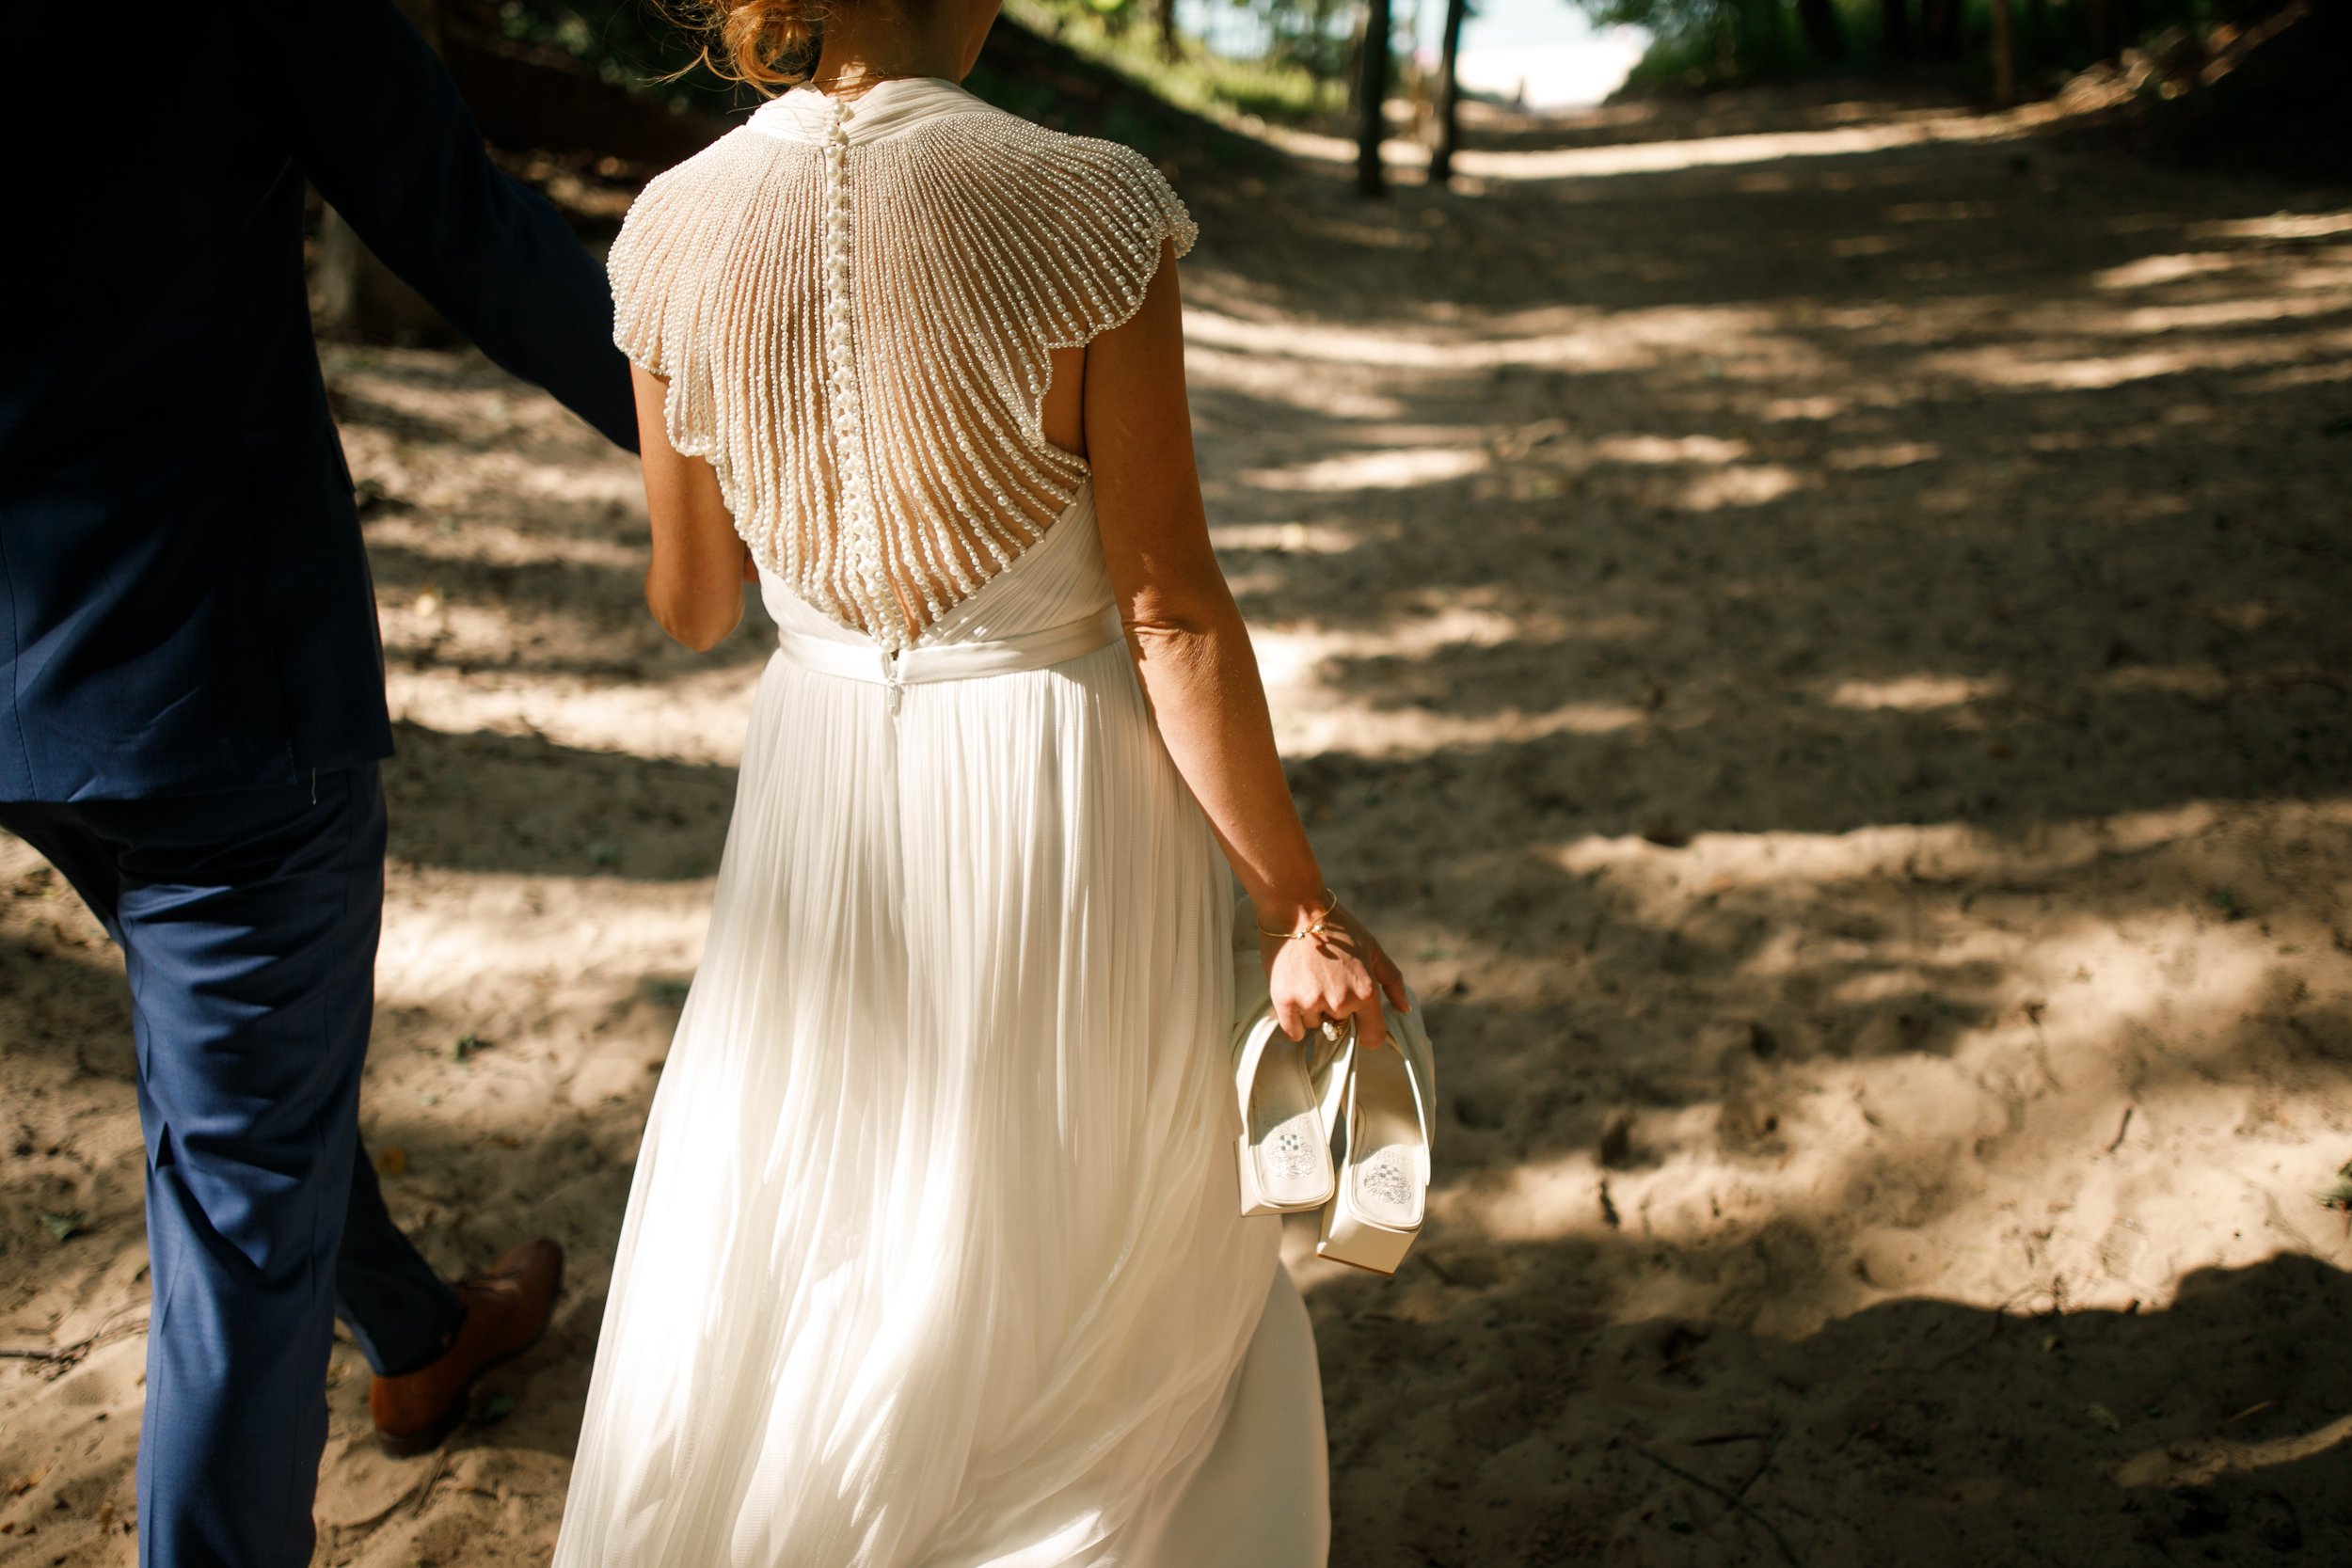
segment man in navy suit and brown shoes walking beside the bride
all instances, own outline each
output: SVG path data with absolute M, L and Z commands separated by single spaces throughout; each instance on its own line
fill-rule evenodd
M 393 750 L 303 287 L 303 181 L 635 447 L 600 268 L 393 0 L 9 19 L 0 827 L 122 945 L 153 1265 L 139 1559 L 301 1568 L 341 1314 L 416 1450 L 546 1324 L 553 1241 L 449 1286 L 358 1135 Z

